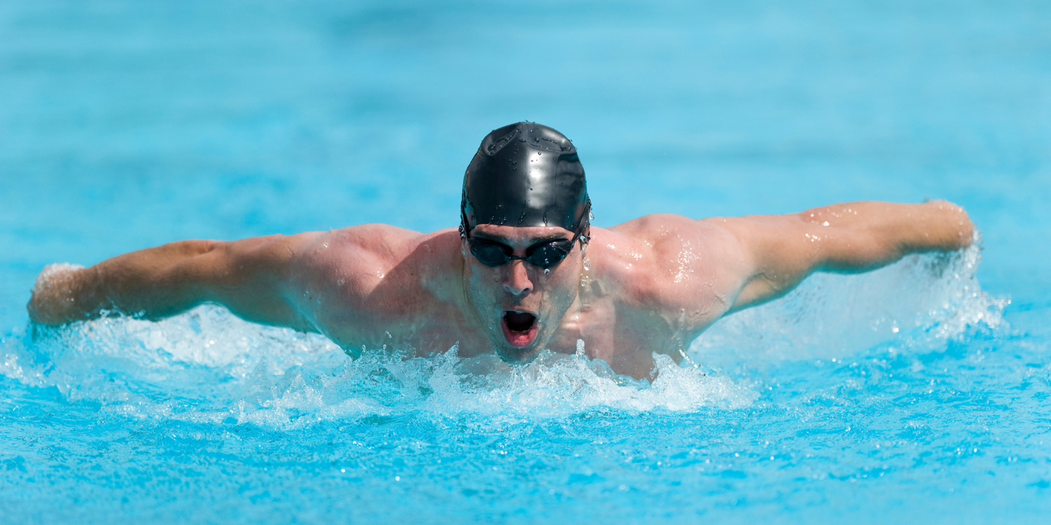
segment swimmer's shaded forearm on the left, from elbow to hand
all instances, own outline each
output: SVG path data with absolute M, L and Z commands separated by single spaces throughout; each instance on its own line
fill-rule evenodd
M 42 324 L 98 317 L 104 311 L 161 318 L 208 300 L 207 287 L 194 273 L 195 258 L 218 243 L 186 240 L 126 253 L 90 268 L 42 272 L 27 307 Z

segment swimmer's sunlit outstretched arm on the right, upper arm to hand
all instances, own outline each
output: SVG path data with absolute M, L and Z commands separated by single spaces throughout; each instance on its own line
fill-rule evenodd
M 846 203 L 705 220 L 737 237 L 748 270 L 731 312 L 780 297 L 816 271 L 864 272 L 910 253 L 967 247 L 973 231 L 967 212 L 945 201 Z

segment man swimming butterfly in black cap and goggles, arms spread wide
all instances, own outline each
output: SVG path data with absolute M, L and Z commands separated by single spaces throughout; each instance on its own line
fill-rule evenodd
M 317 332 L 353 356 L 458 343 L 528 362 L 574 353 L 636 378 L 653 352 L 681 359 L 720 317 L 780 297 L 815 271 L 860 272 L 971 243 L 963 208 L 848 203 L 788 215 L 646 215 L 591 227 L 573 144 L 521 122 L 491 132 L 463 176 L 459 230 L 386 225 L 234 242 L 184 240 L 90 268 L 49 267 L 29 317 L 159 319 L 204 302 Z

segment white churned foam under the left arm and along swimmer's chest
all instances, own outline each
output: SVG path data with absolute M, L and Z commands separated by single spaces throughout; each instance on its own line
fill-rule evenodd
M 0 372 L 35 387 L 55 386 L 69 401 L 139 418 L 232 417 L 273 428 L 413 411 L 534 418 L 598 406 L 734 407 L 755 398 L 666 356 L 657 358 L 653 385 L 583 355 L 548 351 L 526 366 L 495 356 L 462 359 L 455 348 L 411 359 L 369 350 L 351 360 L 322 336 L 255 326 L 214 306 L 161 322 L 104 318 L 38 329 L 36 342 L 15 350 Z

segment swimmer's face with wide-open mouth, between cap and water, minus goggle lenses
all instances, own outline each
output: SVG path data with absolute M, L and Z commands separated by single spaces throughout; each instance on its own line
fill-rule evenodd
M 471 230 L 471 238 L 503 244 L 514 257 L 527 257 L 527 253 L 538 251 L 537 245 L 569 240 L 573 233 L 557 227 L 478 225 Z M 572 249 L 561 262 L 547 271 L 520 258 L 486 266 L 471 253 L 467 239 L 460 251 L 468 299 L 497 355 L 512 363 L 529 362 L 555 335 L 576 300 L 580 250 Z

